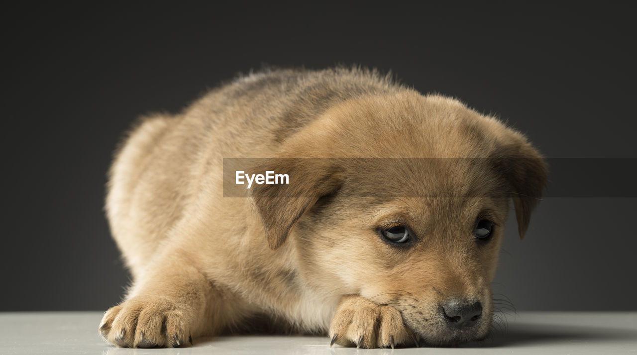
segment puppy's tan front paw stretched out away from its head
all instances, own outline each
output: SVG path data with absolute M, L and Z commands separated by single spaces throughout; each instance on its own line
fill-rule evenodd
M 134 297 L 106 311 L 99 332 L 120 347 L 190 346 L 190 313 L 166 298 Z

